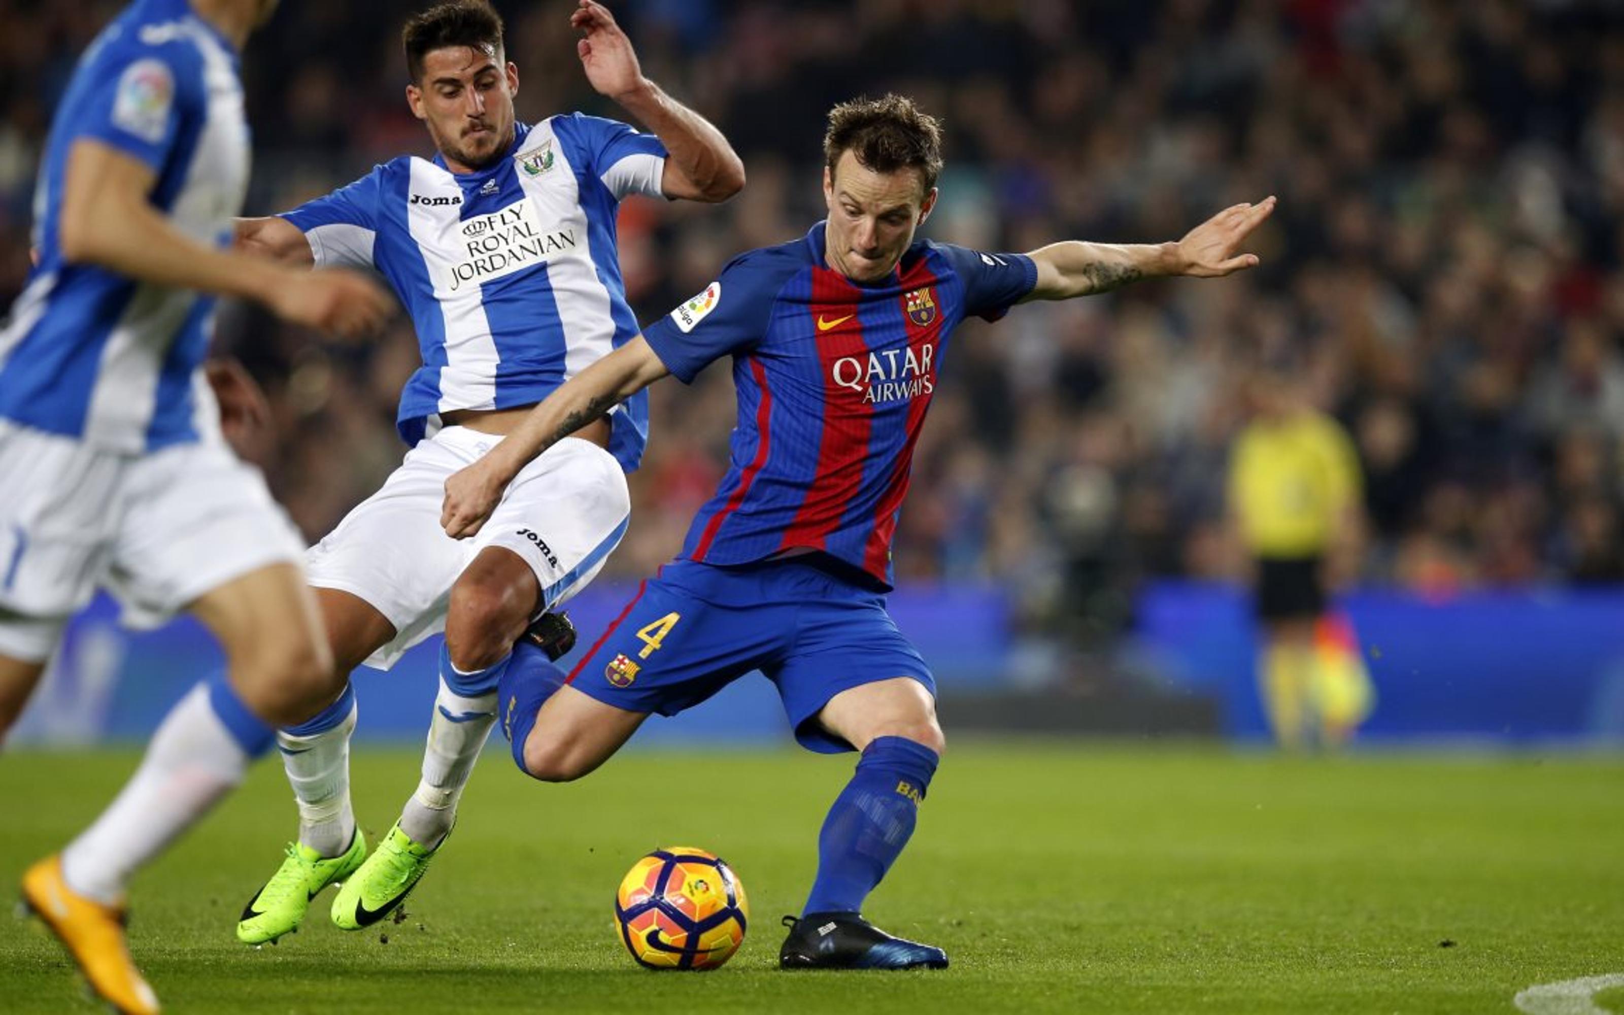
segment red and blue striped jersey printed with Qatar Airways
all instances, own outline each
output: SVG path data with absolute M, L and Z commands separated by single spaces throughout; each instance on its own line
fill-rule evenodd
M 879 588 L 948 335 L 1031 292 L 1020 253 L 916 242 L 892 274 L 854 283 L 806 239 L 744 253 L 705 292 L 643 330 L 684 383 L 732 356 L 731 468 L 682 555 L 750 564 L 817 551 Z

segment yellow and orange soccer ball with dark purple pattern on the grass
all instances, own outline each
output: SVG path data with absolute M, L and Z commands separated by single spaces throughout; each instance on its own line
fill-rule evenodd
M 620 879 L 614 922 L 650 970 L 715 970 L 744 944 L 750 903 L 732 867 L 689 846 L 641 857 Z

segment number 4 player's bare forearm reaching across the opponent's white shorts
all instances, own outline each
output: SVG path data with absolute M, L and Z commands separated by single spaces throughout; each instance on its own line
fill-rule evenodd
M 440 510 L 445 534 L 466 539 L 479 533 L 520 469 L 667 374 L 666 364 L 638 335 L 572 377 L 484 458 L 445 481 Z

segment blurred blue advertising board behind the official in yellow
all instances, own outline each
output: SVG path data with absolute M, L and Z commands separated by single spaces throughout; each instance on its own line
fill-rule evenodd
M 1363 741 L 1624 742 L 1624 591 L 1359 591 L 1338 606 L 1377 693 Z M 1229 736 L 1268 736 L 1241 590 L 1160 583 L 1138 617 L 1176 684 L 1221 698 Z

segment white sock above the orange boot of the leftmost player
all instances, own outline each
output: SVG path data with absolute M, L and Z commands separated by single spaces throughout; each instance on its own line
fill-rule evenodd
M 80 895 L 115 905 L 143 864 L 198 823 L 242 781 L 248 755 L 198 684 L 153 734 L 141 767 L 80 838 L 62 851 L 62 877 Z

